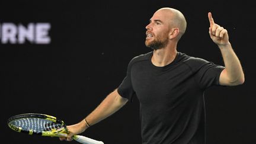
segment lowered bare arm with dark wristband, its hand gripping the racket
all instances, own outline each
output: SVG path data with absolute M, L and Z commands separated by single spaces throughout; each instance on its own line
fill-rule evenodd
M 89 126 L 111 116 L 111 114 L 123 107 L 127 101 L 128 100 L 121 97 L 117 92 L 117 89 L 115 89 L 101 102 L 100 105 L 98 105 L 97 108 L 95 108 L 94 111 L 92 111 L 92 113 L 85 117 L 85 119 L 81 120 L 79 123 L 67 126 L 71 133 L 68 137 L 60 137 L 60 140 L 71 141 L 73 135 L 78 135 L 79 133 L 84 132 Z

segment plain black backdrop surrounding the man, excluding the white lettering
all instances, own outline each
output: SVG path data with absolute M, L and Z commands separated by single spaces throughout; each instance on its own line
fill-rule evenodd
M 178 51 L 223 65 L 209 37 L 207 12 L 229 32 L 245 83 L 205 92 L 207 144 L 255 144 L 255 5 L 247 1 L 0 1 L 0 24 L 50 23 L 50 44 L 0 44 L 1 140 L 60 142 L 14 132 L 7 119 L 44 113 L 67 124 L 82 120 L 117 88 L 130 59 L 151 51 L 145 26 L 161 7 L 179 9 L 187 31 Z M 82 135 L 105 144 L 141 143 L 135 99 Z

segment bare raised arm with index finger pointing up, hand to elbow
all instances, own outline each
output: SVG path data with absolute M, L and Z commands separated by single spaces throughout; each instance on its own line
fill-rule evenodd
M 245 81 L 241 63 L 229 42 L 228 31 L 220 27 L 213 20 L 212 13 L 208 13 L 210 22 L 209 34 L 213 42 L 217 44 L 222 53 L 225 69 L 220 74 L 220 85 L 240 85 Z

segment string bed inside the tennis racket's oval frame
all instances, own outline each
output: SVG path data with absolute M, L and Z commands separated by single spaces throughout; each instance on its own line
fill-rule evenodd
M 34 133 L 41 133 L 43 131 L 52 131 L 53 129 L 62 128 L 62 124 L 39 118 L 16 119 L 12 120 L 10 123 L 14 126 L 21 127 L 23 130 L 32 130 Z

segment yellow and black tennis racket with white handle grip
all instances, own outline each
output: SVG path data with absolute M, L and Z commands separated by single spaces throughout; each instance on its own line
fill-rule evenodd
M 66 137 L 69 133 L 64 121 L 47 114 L 18 114 L 10 117 L 7 124 L 12 130 L 28 135 Z M 101 141 L 80 135 L 74 135 L 73 139 L 84 144 L 104 144 Z

